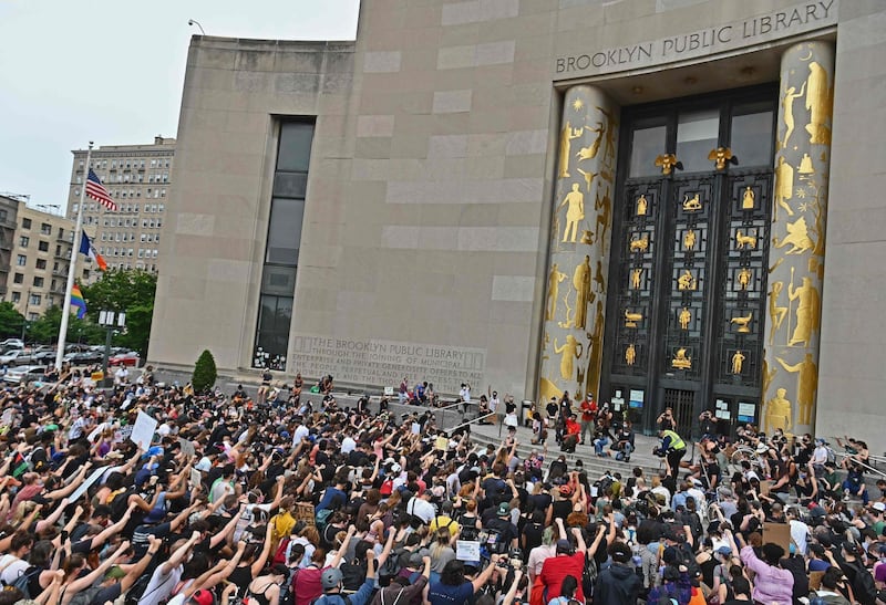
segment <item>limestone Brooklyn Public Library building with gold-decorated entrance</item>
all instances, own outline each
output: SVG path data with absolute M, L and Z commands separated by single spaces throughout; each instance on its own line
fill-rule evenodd
M 150 361 L 873 442 L 884 58 L 880 0 L 363 0 L 354 42 L 194 36 Z

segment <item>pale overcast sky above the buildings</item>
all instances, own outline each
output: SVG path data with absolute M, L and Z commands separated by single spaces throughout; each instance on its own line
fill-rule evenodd
M 187 49 L 199 33 L 189 19 L 207 35 L 353 40 L 358 8 L 359 0 L 0 0 L 0 194 L 63 210 L 72 149 L 176 136 Z

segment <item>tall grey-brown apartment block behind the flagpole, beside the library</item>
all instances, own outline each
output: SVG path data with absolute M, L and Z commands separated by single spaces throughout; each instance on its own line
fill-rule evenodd
M 86 179 L 86 150 L 72 153 L 68 217 L 76 220 L 80 191 Z M 109 269 L 156 273 L 174 158 L 175 138 L 163 136 L 154 137 L 153 144 L 106 145 L 92 150 L 90 167 L 117 202 L 119 210 L 110 211 L 86 198 L 83 229 Z

